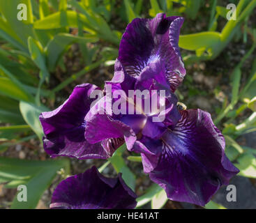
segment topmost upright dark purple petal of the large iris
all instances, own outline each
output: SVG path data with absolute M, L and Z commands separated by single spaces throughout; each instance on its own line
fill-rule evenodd
M 178 45 L 182 24 L 183 17 L 166 17 L 164 13 L 152 20 L 137 18 L 128 24 L 118 57 L 128 75 L 140 78 L 143 72 L 149 72 L 144 70 L 146 67 L 160 63 L 175 91 L 186 75 Z

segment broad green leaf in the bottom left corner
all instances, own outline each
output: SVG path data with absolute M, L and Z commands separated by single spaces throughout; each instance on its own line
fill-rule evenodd
M 0 157 L 0 181 L 8 182 L 6 187 L 17 187 L 20 184 L 27 186 L 27 202 L 13 200 L 11 208 L 30 209 L 36 208 L 43 192 L 57 175 L 59 169 L 69 173 L 69 161 L 61 160 L 18 160 Z

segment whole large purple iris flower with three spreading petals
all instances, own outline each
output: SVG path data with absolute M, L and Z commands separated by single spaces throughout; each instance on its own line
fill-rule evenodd
M 239 170 L 227 159 L 225 139 L 211 115 L 200 109 L 181 111 L 177 107 L 174 91 L 186 75 L 178 46 L 182 24 L 183 18 L 165 14 L 153 20 L 133 20 L 123 34 L 114 77 L 105 82 L 104 97 L 91 107 L 95 99 L 89 95 L 98 88 L 82 84 L 58 109 L 40 115 L 45 151 L 52 157 L 106 159 L 126 142 L 128 151 L 141 153 L 144 172 L 165 189 L 168 198 L 200 206 L 221 185 L 227 185 Z M 136 95 L 133 100 L 120 100 L 123 95 L 109 100 L 107 89 L 112 95 L 121 90 L 126 95 L 130 90 L 150 93 Z M 165 95 L 162 100 L 156 97 L 156 105 L 164 101 L 164 109 L 156 106 L 145 112 L 146 100 L 160 96 L 159 91 L 165 91 Z M 142 105 L 137 106 L 139 99 Z M 114 106 L 119 100 L 126 113 L 109 114 L 108 105 Z M 133 114 L 129 113 L 130 104 Z M 78 176 L 68 179 L 73 182 Z M 57 194 L 65 190 L 64 186 L 58 188 Z M 78 190 L 70 193 L 77 194 L 73 202 L 77 200 L 83 206 Z M 53 198 L 53 203 L 68 201 Z

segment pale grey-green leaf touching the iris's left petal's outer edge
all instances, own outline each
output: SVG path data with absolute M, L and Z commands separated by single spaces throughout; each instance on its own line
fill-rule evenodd
M 46 111 L 49 111 L 47 107 L 38 107 L 28 102 L 20 102 L 20 112 L 24 120 L 29 124 L 40 140 L 43 138 L 43 130 L 39 121 L 39 115 L 41 112 Z

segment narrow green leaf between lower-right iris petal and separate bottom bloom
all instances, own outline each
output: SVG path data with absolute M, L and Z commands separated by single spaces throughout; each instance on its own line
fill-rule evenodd
M 124 162 L 122 154 L 126 150 L 126 146 L 121 146 L 114 152 L 114 155 L 109 159 L 112 166 L 117 173 L 122 173 L 122 178 L 124 182 L 135 191 L 135 175 L 127 167 L 126 162 Z

